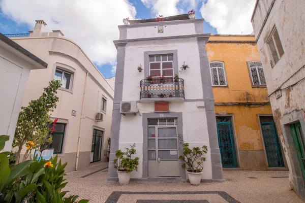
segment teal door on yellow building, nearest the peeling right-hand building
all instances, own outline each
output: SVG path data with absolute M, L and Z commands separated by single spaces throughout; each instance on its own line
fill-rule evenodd
M 272 116 L 260 116 L 261 129 L 269 167 L 284 167 L 278 130 Z

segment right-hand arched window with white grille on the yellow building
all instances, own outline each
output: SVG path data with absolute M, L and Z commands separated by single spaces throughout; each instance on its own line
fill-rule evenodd
M 262 68 L 262 63 L 259 61 L 248 62 L 252 84 L 254 86 L 266 85 L 266 80 Z

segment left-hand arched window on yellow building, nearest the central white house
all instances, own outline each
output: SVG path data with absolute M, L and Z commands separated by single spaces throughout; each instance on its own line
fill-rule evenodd
M 209 63 L 213 86 L 227 86 L 225 64 L 220 61 Z

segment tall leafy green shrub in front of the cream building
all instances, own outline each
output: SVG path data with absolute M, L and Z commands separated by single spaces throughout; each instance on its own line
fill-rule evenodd
M 44 88 L 42 95 L 29 102 L 27 107 L 21 107 L 17 127 L 13 141 L 13 147 L 17 147 L 16 160 L 19 162 L 22 147 L 27 141 L 35 143 L 34 146 L 44 143 L 49 132 L 48 123 L 51 123 L 49 112 L 54 111 L 58 97 L 57 89 L 61 86 L 58 80 L 49 82 L 49 86 Z M 52 139 L 49 139 L 49 143 Z M 31 149 L 27 149 L 23 161 L 27 159 Z

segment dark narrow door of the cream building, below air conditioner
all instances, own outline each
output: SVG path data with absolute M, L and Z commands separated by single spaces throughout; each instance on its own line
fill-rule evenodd
M 90 163 L 101 160 L 103 131 L 93 129 Z

